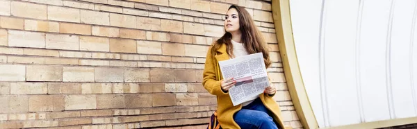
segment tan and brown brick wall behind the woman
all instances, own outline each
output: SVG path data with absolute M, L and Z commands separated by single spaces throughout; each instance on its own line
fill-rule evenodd
M 216 98 L 201 85 L 205 55 L 231 3 L 263 32 L 275 99 L 286 125 L 301 128 L 270 2 L 0 0 L 0 128 L 208 123 Z

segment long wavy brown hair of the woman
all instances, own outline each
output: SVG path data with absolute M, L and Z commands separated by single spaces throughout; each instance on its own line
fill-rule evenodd
M 238 12 L 239 17 L 239 24 L 240 24 L 240 32 L 242 33 L 242 43 L 245 46 L 247 53 L 263 53 L 263 61 L 265 62 L 265 67 L 269 67 L 271 65 L 270 57 L 269 57 L 269 50 L 265 40 L 263 40 L 262 33 L 258 30 L 255 26 L 252 17 L 250 16 L 249 12 L 245 10 L 245 8 L 232 5 L 229 7 L 228 10 L 231 8 L 235 8 Z M 225 30 L 224 30 L 225 31 Z M 227 46 L 227 54 L 229 56 L 234 56 L 233 54 L 233 45 L 231 44 L 231 33 L 224 33 L 220 39 L 214 42 L 213 47 L 211 49 L 211 55 L 215 55 L 216 51 L 222 46 L 222 44 L 226 44 Z

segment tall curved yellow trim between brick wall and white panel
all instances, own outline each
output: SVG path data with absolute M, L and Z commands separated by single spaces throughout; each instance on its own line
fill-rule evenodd
M 304 88 L 295 52 L 289 0 L 272 0 L 272 15 L 277 34 L 279 53 L 284 66 L 286 83 L 293 99 L 295 112 L 306 129 L 318 128 L 309 98 Z

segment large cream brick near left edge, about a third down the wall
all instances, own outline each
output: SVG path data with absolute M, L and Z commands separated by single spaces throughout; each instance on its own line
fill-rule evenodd
M 45 48 L 45 34 L 28 31 L 8 31 L 8 45 Z

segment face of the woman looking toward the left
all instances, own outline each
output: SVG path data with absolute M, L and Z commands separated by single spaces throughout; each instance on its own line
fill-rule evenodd
M 228 33 L 239 31 L 239 14 L 236 8 L 231 8 L 227 11 L 224 19 L 224 29 Z

